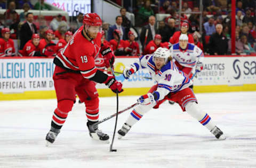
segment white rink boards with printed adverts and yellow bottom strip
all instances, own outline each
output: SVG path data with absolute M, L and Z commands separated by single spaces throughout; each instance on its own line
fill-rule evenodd
M 136 56 L 117 57 L 115 71 L 138 60 Z M 0 58 L 0 100 L 54 98 L 53 58 Z M 139 70 L 129 80 L 116 73 L 123 83 L 121 96 L 142 95 L 154 85 L 146 69 Z M 114 96 L 105 85 L 97 85 L 100 96 Z M 205 56 L 204 69 L 195 75 L 195 93 L 256 90 L 256 56 Z

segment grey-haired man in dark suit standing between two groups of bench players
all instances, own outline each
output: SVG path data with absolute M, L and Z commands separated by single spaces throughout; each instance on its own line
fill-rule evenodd
M 148 18 L 149 24 L 144 26 L 140 33 L 140 43 L 142 45 L 142 50 L 149 43 L 149 41 L 153 40 L 153 37 L 156 35 L 156 18 L 155 16 L 149 16 Z

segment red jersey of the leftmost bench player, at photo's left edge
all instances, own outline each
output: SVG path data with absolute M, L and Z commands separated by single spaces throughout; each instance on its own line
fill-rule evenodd
M 12 39 L 5 41 L 3 38 L 0 38 L 0 57 L 4 56 L 14 56 L 15 48 Z

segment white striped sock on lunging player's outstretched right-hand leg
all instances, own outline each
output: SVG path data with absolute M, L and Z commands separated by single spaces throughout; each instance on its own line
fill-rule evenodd
M 212 122 L 210 115 L 203 112 L 196 102 L 189 102 L 186 105 L 186 111 L 189 115 L 194 117 L 194 119 L 196 119 L 210 131 L 215 127 L 215 124 Z

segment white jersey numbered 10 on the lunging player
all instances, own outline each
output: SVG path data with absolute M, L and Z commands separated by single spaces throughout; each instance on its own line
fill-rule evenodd
M 170 92 L 188 88 L 192 85 L 192 81 L 182 72 L 179 71 L 173 61 L 167 62 L 161 70 L 157 70 L 153 61 L 153 55 L 142 55 L 140 60 L 133 63 L 137 71 L 140 68 L 147 68 L 151 77 L 157 82 L 157 91 L 159 92 L 159 100 L 163 99 Z

